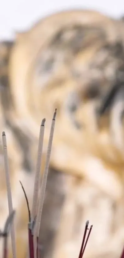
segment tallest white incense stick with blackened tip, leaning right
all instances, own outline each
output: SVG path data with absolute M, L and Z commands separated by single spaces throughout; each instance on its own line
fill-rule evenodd
M 39 195 L 40 199 L 39 199 L 39 205 L 38 205 L 36 225 L 34 228 L 34 254 L 36 254 L 36 239 L 39 236 L 39 231 L 40 231 L 42 208 L 43 208 L 43 202 L 45 197 L 46 181 L 47 181 L 47 175 L 48 175 L 48 169 L 49 169 L 49 163 L 50 163 L 50 154 L 51 154 L 52 141 L 53 141 L 53 135 L 54 135 L 55 117 L 56 117 L 56 110 L 54 112 L 51 129 L 50 129 L 50 136 L 49 136 L 49 142 L 48 142 L 48 148 L 47 148 L 47 154 L 46 154 L 46 164 L 45 164 L 45 169 L 42 177 L 42 184 L 41 184 L 40 195 Z

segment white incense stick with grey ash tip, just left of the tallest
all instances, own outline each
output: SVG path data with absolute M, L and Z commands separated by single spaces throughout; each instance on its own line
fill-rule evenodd
M 36 165 L 33 203 L 32 203 L 32 214 L 31 214 L 32 221 L 35 219 L 35 216 L 36 216 L 36 213 L 37 213 L 37 206 L 38 206 L 38 191 L 39 191 L 39 181 L 40 181 L 40 171 L 41 171 L 41 160 L 42 160 L 42 149 L 43 149 L 43 137 L 44 137 L 45 121 L 46 121 L 46 119 L 44 118 L 42 120 L 42 123 L 41 123 L 41 126 L 40 126 L 39 143 L 38 143 L 38 158 L 37 158 L 37 165 Z

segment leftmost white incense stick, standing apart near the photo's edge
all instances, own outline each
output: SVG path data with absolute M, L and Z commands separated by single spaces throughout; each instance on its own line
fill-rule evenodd
M 8 155 L 7 155 L 7 144 L 6 144 L 6 134 L 5 134 L 5 132 L 2 132 L 2 144 L 3 144 L 5 174 L 6 174 L 6 187 L 7 187 L 7 196 L 8 196 L 8 207 L 9 207 L 9 214 L 11 214 L 11 212 L 13 212 L 13 204 L 12 204 L 10 175 L 9 175 L 9 162 L 8 162 Z M 11 235 L 11 244 L 12 244 L 13 258 L 16 258 L 16 244 L 15 244 L 14 222 L 12 223 L 11 228 L 10 228 L 10 235 Z

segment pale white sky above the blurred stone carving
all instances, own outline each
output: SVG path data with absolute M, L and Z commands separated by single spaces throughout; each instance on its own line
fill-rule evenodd
M 124 14 L 122 0 L 4 0 L 0 8 L 0 39 L 14 38 L 14 31 L 28 29 L 43 16 L 80 7 L 98 10 L 115 18 Z

